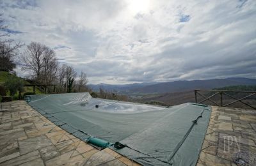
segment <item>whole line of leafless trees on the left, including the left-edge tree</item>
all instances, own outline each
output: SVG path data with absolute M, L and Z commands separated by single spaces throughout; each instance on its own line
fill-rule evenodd
M 77 74 L 72 66 L 60 64 L 56 53 L 46 45 L 32 41 L 26 46 L 24 52 L 20 48 L 24 43 L 10 38 L 8 26 L 4 25 L 3 14 L 0 14 L 0 71 L 15 74 L 14 69 L 19 61 L 21 70 L 29 73 L 27 78 L 33 84 L 56 84 L 58 93 L 88 91 L 86 73 Z M 10 78 L 12 79 L 12 78 Z M 18 85 L 12 82 L 13 89 Z M 20 82 L 20 80 L 19 80 Z M 7 87 L 8 88 L 8 87 Z M 49 89 L 51 93 L 51 89 Z

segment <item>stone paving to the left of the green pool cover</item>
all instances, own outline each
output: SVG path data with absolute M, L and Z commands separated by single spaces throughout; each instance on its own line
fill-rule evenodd
M 77 139 L 24 101 L 1 105 L 0 165 L 139 165 Z

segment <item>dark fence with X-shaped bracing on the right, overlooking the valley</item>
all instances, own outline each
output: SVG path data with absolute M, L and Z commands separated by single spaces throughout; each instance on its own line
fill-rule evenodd
M 203 93 L 207 93 L 207 94 L 203 94 Z M 240 94 L 240 95 L 237 95 L 237 94 Z M 246 94 L 246 95 L 244 96 L 241 94 Z M 211 102 L 220 107 L 227 107 L 227 106 L 233 105 L 234 103 L 240 102 L 252 109 L 256 109 L 256 107 L 252 103 L 244 102 L 244 100 L 248 100 L 249 98 L 252 98 L 252 96 L 254 96 L 255 94 L 256 94 L 256 91 L 195 90 L 195 102 L 196 103 Z M 199 97 L 202 100 L 198 102 Z M 229 98 L 229 100 L 225 100 L 225 103 L 224 103 L 224 97 Z

